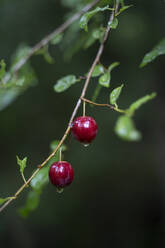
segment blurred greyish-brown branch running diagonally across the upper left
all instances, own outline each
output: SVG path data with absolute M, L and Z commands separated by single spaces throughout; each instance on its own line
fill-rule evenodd
M 22 68 L 24 64 L 31 58 L 32 55 L 34 55 L 37 51 L 39 51 L 42 47 L 46 46 L 56 35 L 59 35 L 63 33 L 73 22 L 78 20 L 82 14 L 93 8 L 100 0 L 95 0 L 92 3 L 89 3 L 86 5 L 80 12 L 73 15 L 70 19 L 68 19 L 66 22 L 64 22 L 61 26 L 59 26 L 57 29 L 55 29 L 52 33 L 47 35 L 45 38 L 43 38 L 40 42 L 38 42 L 34 47 L 30 49 L 28 54 L 21 58 L 13 67 L 13 74 L 17 74 L 18 71 Z M 3 78 L 3 84 L 6 84 L 11 79 L 11 74 L 7 73 L 6 76 Z M 0 82 L 2 83 L 2 82 Z

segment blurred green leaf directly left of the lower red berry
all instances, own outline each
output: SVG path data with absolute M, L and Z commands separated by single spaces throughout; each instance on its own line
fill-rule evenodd
M 47 183 L 49 182 L 48 171 L 49 167 L 46 166 L 42 168 L 32 179 L 30 185 L 34 190 L 41 191 L 43 187 L 47 185 Z

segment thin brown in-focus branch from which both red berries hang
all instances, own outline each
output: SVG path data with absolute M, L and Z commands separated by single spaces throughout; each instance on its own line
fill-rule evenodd
M 97 2 L 97 1 L 96 1 Z M 95 2 L 95 3 L 96 3 Z M 89 8 L 89 7 L 88 7 Z M 112 21 L 114 19 L 114 16 L 115 16 L 115 13 L 116 13 L 116 9 L 118 8 L 117 5 L 115 5 L 115 10 L 112 11 L 111 15 L 110 15 L 110 18 L 108 20 L 108 23 L 109 21 Z M 90 82 L 90 79 L 91 79 L 91 76 L 92 76 L 92 72 L 95 68 L 95 66 L 97 65 L 97 63 L 99 62 L 100 58 L 101 58 L 101 55 L 103 53 L 103 50 L 104 50 L 104 46 L 105 46 L 105 42 L 107 41 L 107 38 L 108 38 L 108 35 L 109 35 L 109 32 L 110 32 L 110 26 L 107 25 L 107 28 L 106 28 L 106 31 L 105 31 L 105 34 L 104 34 L 104 38 L 103 38 L 103 41 L 102 43 L 100 44 L 99 46 L 99 49 L 97 51 L 97 54 L 96 54 L 96 57 L 90 67 L 90 70 L 88 72 L 88 75 L 87 75 L 87 78 L 86 78 L 86 81 L 85 81 L 85 84 L 84 84 L 84 87 L 82 89 L 82 93 L 81 93 L 81 96 L 79 97 L 77 103 L 76 103 L 76 106 L 72 112 L 72 115 L 71 115 L 71 118 L 70 118 L 70 121 L 68 123 L 68 126 L 67 126 L 67 129 L 63 135 L 63 137 L 61 138 L 60 142 L 58 143 L 56 149 L 49 155 L 49 157 L 36 169 L 36 171 L 31 175 L 31 177 L 26 181 L 25 184 L 23 184 L 19 189 L 18 191 L 14 194 L 13 197 L 11 197 L 6 203 L 4 203 L 4 205 L 0 208 L 0 212 L 2 210 L 4 210 L 14 199 L 17 198 L 17 196 L 24 190 L 24 188 L 30 184 L 31 180 L 35 177 L 35 175 L 40 171 L 40 169 L 42 167 L 44 167 L 45 164 L 47 164 L 47 162 L 57 153 L 57 151 L 59 150 L 59 148 L 61 147 L 61 145 L 64 143 L 66 137 L 68 136 L 69 132 L 70 132 L 70 129 L 71 129 L 71 124 L 77 114 L 77 111 L 81 105 L 81 102 L 82 102 L 82 98 L 84 98 L 85 94 L 86 94 L 86 91 L 87 91 L 87 88 L 88 88 L 88 85 L 89 85 L 89 82 Z

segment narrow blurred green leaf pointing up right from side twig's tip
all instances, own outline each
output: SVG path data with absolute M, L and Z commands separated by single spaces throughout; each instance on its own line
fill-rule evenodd
M 128 109 L 128 113 L 129 114 L 133 114 L 135 112 L 136 109 L 140 108 L 141 105 L 143 105 L 144 103 L 152 100 L 153 98 L 156 97 L 156 93 L 153 92 L 152 94 L 150 95 L 146 95 L 140 99 L 138 99 L 137 101 L 135 101 L 134 103 L 132 103 Z

